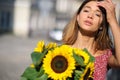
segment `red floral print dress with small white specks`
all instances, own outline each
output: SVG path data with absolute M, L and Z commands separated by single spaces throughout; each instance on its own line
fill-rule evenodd
M 112 52 L 111 50 L 107 50 L 105 52 L 106 53 L 95 57 L 94 80 L 106 80 L 107 62 L 108 58 L 112 55 Z

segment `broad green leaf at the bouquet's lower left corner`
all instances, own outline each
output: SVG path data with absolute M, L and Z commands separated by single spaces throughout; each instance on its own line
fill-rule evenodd
M 28 67 L 24 73 L 22 74 L 21 77 L 24 77 L 22 78 L 22 80 L 34 80 L 36 77 L 38 76 L 38 72 L 36 71 L 35 68 L 31 68 L 31 67 Z

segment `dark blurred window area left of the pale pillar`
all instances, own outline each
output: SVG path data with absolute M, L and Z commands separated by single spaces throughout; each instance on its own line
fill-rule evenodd
M 0 34 L 12 31 L 13 27 L 13 0 L 0 0 Z

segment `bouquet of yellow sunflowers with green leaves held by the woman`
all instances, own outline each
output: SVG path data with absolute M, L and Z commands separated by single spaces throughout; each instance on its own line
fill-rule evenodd
M 91 80 L 94 57 L 84 49 L 39 41 L 21 80 Z

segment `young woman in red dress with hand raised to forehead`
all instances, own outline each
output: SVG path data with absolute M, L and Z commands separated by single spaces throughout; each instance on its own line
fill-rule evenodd
M 114 38 L 113 44 L 108 29 Z M 87 48 L 95 57 L 94 80 L 105 80 L 107 64 L 120 67 L 120 27 L 112 0 L 85 0 L 63 31 L 63 43 Z

